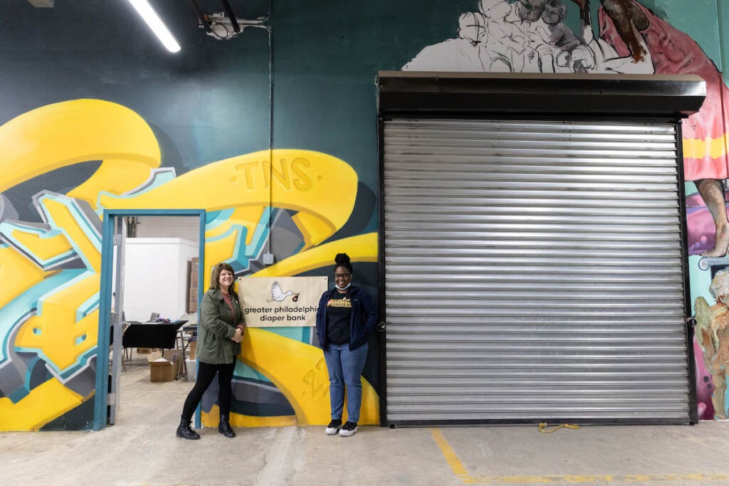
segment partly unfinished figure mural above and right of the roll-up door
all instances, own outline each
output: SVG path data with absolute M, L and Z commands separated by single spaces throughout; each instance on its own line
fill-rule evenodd
M 474 7 L 459 17 L 456 38 L 424 47 L 402 70 L 695 74 L 706 81 L 703 106 L 682 121 L 685 180 L 696 190 L 686 199 L 687 249 L 693 294 L 703 296 L 697 299 L 697 316 L 701 308 L 706 321 L 706 299 L 712 297 L 704 283 L 712 277 L 703 274 L 710 267 L 729 267 L 729 90 L 714 62 L 688 34 L 638 0 L 600 0 L 597 26 L 589 0 L 480 0 Z M 579 15 L 581 31 L 563 22 L 569 9 Z M 716 305 L 723 309 L 722 302 Z M 716 361 L 717 350 L 729 342 L 716 330 L 706 339 L 693 343 L 699 417 L 726 418 L 725 399 L 717 396 L 725 392 L 725 377 Z

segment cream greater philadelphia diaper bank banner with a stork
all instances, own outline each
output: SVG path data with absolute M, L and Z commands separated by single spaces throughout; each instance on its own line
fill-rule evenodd
M 316 326 L 328 277 L 241 277 L 238 297 L 249 327 Z

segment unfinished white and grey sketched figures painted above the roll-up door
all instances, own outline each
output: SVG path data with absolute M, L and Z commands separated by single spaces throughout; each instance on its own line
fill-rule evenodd
M 425 47 L 403 71 L 485 71 L 542 73 L 655 72 L 642 38 L 642 54 L 621 52 L 590 22 L 588 1 L 580 4 L 582 32 L 575 34 L 562 20 L 561 0 L 481 0 L 477 12 L 459 17 L 458 39 Z M 602 24 L 601 24 L 602 25 Z

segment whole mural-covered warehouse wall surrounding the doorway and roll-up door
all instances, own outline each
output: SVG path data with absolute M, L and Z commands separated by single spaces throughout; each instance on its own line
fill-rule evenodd
M 429 8 L 231 0 L 239 17 L 258 25 L 230 39 L 206 35 L 187 4 L 152 1 L 178 37 L 176 54 L 124 1 L 4 4 L 0 430 L 92 427 L 96 360 L 105 356 L 98 349 L 104 210 L 206 211 L 205 287 L 217 262 L 233 264 L 239 277 L 330 275 L 335 254 L 346 251 L 355 283 L 377 297 L 378 71 L 545 72 L 552 60 L 565 74 L 593 65 L 681 74 L 674 61 L 688 53 L 718 95 L 706 105 L 712 114 L 684 125 L 687 168 L 707 159 L 726 168 L 725 7 L 630 1 L 637 34 L 609 28 L 593 0 L 591 41 L 585 12 L 569 0 L 546 2 L 556 12 L 545 17 L 550 23 L 541 16 L 515 22 L 509 16 L 518 6 L 505 0 L 439 0 Z M 672 36 L 673 50 L 652 44 L 646 18 Z M 590 57 L 608 47 L 612 57 Z M 717 123 L 720 136 L 701 135 Z M 687 138 L 690 130 L 698 135 Z M 701 177 L 719 181 L 725 199 L 725 177 Z M 711 311 L 720 302 L 709 289 L 729 262 L 722 248 L 712 252 L 721 231 L 693 179 L 686 189 L 692 301 L 709 309 L 708 340 L 694 343 L 697 401 L 700 418 L 725 418 L 723 372 L 711 369 L 704 352 L 714 353 L 723 337 Z M 273 265 L 262 264 L 268 251 Z M 236 377 L 280 395 L 234 403 L 233 425 L 327 423 L 327 372 L 311 328 L 252 331 Z M 362 423 L 377 424 L 380 340 L 370 341 Z M 289 358 L 297 367 L 281 365 Z M 290 403 L 303 394 L 316 396 L 309 409 Z M 214 412 L 203 409 L 203 423 Z

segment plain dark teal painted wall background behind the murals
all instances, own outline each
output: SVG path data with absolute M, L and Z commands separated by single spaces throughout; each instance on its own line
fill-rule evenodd
M 267 150 L 268 32 L 250 27 L 235 39 L 211 39 L 198 28 L 187 1 L 153 3 L 178 37 L 182 52 L 163 50 L 122 0 L 58 0 L 52 9 L 34 8 L 26 0 L 2 2 L 0 16 L 12 21 L 0 29 L 0 125 L 51 103 L 98 98 L 139 114 L 159 143 L 162 167 L 174 168 L 178 176 L 228 157 Z M 690 34 L 720 70 L 729 65 L 729 6 L 724 0 L 643 3 Z M 216 4 L 219 10 L 218 1 L 201 4 Z M 269 11 L 265 0 L 231 4 L 241 17 L 264 17 Z M 323 152 L 356 172 L 359 187 L 351 216 L 327 241 L 376 232 L 376 75 L 397 70 L 424 47 L 455 37 L 459 15 L 477 10 L 477 0 L 271 4 L 265 24 L 273 39 L 273 148 Z M 566 23 L 577 31 L 574 4 L 566 4 Z M 598 4 L 592 1 L 594 26 Z M 2 163 L 0 155 L 0 168 Z M 6 211 L 0 218 L 42 223 L 32 196 L 42 190 L 65 194 L 98 167 L 99 162 L 91 160 L 8 187 L 0 199 L 0 210 Z M 364 264 L 358 276 L 376 289 L 376 262 Z M 706 295 L 705 277 L 693 283 L 693 298 Z M 0 341 L 7 337 L 0 335 Z M 375 388 L 377 353 L 375 347 L 366 370 Z M 36 373 L 28 387 L 44 379 L 42 364 L 37 364 Z M 0 388 L 4 383 L 0 376 Z M 23 392 L 0 389 L 0 400 Z M 84 428 L 63 424 L 89 423 L 88 413 L 88 407 L 79 407 L 52 425 Z

